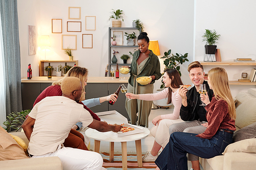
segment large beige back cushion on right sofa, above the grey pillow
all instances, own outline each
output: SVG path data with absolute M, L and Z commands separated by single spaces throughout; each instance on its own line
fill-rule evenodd
M 255 89 L 239 92 L 236 96 L 236 126 L 240 129 L 256 122 L 256 93 Z

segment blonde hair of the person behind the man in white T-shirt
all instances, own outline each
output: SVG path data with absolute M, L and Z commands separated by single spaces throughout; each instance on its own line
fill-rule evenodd
M 80 79 L 80 81 L 82 82 L 82 86 L 84 87 L 83 82 L 86 80 L 88 76 L 88 69 L 84 68 L 84 67 L 79 67 L 79 66 L 75 66 L 72 67 L 66 74 L 65 77 L 76 77 L 78 79 Z M 55 81 L 52 83 L 52 85 L 59 85 L 61 86 L 61 82 L 63 79 L 60 79 L 58 81 Z

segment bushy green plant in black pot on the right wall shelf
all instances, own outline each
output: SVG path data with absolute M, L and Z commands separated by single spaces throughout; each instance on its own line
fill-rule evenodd
M 217 45 L 214 45 L 217 43 L 216 41 L 220 38 L 221 35 L 217 35 L 215 30 L 207 30 L 205 29 L 205 33 L 202 36 L 203 41 L 206 41 L 205 47 L 205 54 L 215 54 Z

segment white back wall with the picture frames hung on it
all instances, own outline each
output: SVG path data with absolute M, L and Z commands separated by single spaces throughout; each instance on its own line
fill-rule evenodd
M 67 32 L 68 7 L 81 7 L 82 32 Z M 38 76 L 38 62 L 45 59 L 45 51 L 37 50 L 36 55 L 28 55 L 28 25 L 34 25 L 37 36 L 49 35 L 51 46 L 46 51 L 48 60 L 69 60 L 61 50 L 61 34 L 51 33 L 51 19 L 62 19 L 62 34 L 77 35 L 77 50 L 73 51 L 74 60 L 79 60 L 79 66 L 89 69 L 89 76 L 104 76 L 108 64 L 108 28 L 112 27 L 109 16 L 111 9 L 121 9 L 124 12 L 122 27 L 132 27 L 132 21 L 140 19 L 144 23 L 145 32 L 150 39 L 157 39 L 161 56 L 165 51 L 188 53 L 189 61 L 193 60 L 193 27 L 194 1 L 191 0 L 161 0 L 161 1 L 88 1 L 88 0 L 19 0 L 19 36 L 21 49 L 22 77 L 26 77 L 27 65 L 32 64 L 33 76 Z M 96 16 L 96 31 L 85 30 L 85 16 Z M 82 48 L 82 34 L 93 34 L 93 48 Z M 136 47 L 137 48 L 137 47 Z M 121 56 L 121 54 L 120 54 Z M 117 55 L 117 59 L 120 59 Z M 160 57 L 161 57 L 160 56 Z M 161 64 L 163 60 L 160 59 Z M 181 66 L 182 80 L 190 83 L 187 75 L 187 65 Z M 162 69 L 163 71 L 163 64 Z M 160 80 L 155 89 L 160 87 Z

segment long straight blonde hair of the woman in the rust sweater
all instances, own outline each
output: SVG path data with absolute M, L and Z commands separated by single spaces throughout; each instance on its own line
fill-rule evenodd
M 212 68 L 208 72 L 208 78 L 210 79 L 212 90 L 214 90 L 215 98 L 227 102 L 228 114 L 235 120 L 236 107 L 234 106 L 234 101 L 230 92 L 226 70 L 221 67 Z

